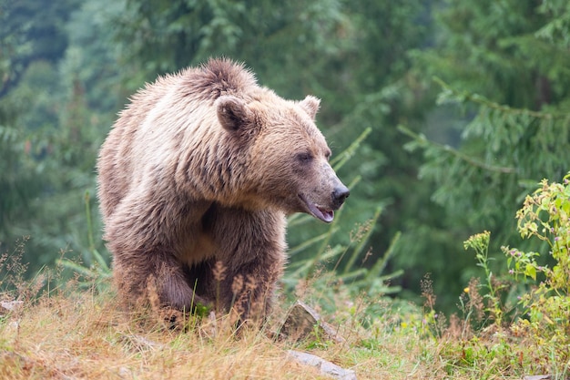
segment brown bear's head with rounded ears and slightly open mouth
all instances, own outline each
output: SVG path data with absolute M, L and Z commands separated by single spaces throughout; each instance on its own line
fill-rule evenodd
M 318 98 L 290 101 L 265 89 L 249 101 L 224 95 L 216 107 L 232 145 L 247 156 L 238 170 L 247 199 L 333 220 L 350 191 L 331 168 L 331 149 L 315 125 Z

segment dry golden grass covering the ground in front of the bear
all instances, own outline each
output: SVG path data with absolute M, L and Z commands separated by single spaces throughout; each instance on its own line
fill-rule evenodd
M 347 324 L 341 329 L 346 343 L 292 344 L 270 339 L 269 324 L 239 337 L 223 325 L 222 318 L 216 334 L 208 321 L 174 331 L 149 315 L 127 318 L 109 295 L 42 296 L 0 316 L 0 378 L 330 378 L 290 360 L 289 349 L 321 355 L 359 379 L 433 378 L 422 364 L 425 344 L 413 334 L 372 338 Z

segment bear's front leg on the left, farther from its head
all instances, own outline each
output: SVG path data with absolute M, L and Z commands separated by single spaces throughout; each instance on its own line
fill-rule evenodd
M 107 221 L 105 235 L 114 256 L 119 296 L 129 305 L 157 300 L 160 307 L 186 312 L 193 312 L 198 304 L 208 306 L 194 293 L 176 254 L 178 241 L 172 231 L 188 231 L 180 223 L 183 212 L 157 206 L 145 193 L 127 200 Z

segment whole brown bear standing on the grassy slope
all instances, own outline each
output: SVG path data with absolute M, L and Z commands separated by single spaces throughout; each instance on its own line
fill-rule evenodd
M 267 313 L 285 216 L 331 222 L 349 196 L 315 126 L 319 106 L 280 98 L 229 59 L 139 90 L 97 161 L 119 295 L 146 299 L 152 282 L 161 306 Z

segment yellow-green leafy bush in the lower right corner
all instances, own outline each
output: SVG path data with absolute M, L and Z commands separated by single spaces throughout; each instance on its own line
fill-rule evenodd
M 514 285 L 527 290 L 519 297 L 518 313 L 505 324 L 509 312 L 499 292 L 504 283 L 493 281 L 488 269 L 490 233 L 473 235 L 464 242 L 465 247 L 476 252 L 478 265 L 483 267 L 488 282 L 483 287 L 470 284 L 465 289 L 469 300 L 463 311 L 477 313 L 483 310 L 480 293 L 487 300 L 485 311 L 491 313 L 493 324 L 483 324 L 470 331 L 471 315 L 466 314 L 461 332 L 461 350 L 458 343 L 450 341 L 443 349 L 443 357 L 451 361 L 453 371 L 472 370 L 476 366 L 492 363 L 492 374 L 551 374 L 552 378 L 565 379 L 568 374 L 568 346 L 570 339 L 570 173 L 562 183 L 543 180 L 538 190 L 528 195 L 523 207 L 517 211 L 518 231 L 524 239 L 546 241 L 550 251 L 547 256 L 554 260 L 552 268 L 539 262 L 546 254 L 523 252 L 502 247 L 507 256 L 507 265 L 513 275 Z M 539 278 L 542 276 L 542 279 Z M 513 287 L 515 288 L 515 287 Z M 466 298 L 466 297 L 465 297 Z M 453 326 L 452 326 L 453 327 Z M 450 327 L 450 330 L 452 329 Z M 455 326 L 457 328 L 457 326 Z M 492 338 L 489 339 L 489 334 Z M 452 368 L 450 368 L 450 371 Z

